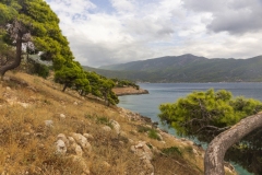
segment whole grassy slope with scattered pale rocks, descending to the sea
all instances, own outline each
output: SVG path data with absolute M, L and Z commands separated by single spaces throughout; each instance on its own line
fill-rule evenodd
M 25 73 L 9 73 L 0 83 L 2 175 L 203 174 L 204 152 L 192 141 L 61 89 Z

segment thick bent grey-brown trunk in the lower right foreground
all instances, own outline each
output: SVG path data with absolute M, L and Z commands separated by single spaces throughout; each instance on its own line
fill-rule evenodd
M 230 129 L 215 137 L 205 151 L 205 175 L 224 175 L 224 156 L 226 151 L 245 136 L 260 127 L 262 127 L 262 113 L 241 119 Z

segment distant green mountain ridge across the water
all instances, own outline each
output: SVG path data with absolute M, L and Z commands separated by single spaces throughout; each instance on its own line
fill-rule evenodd
M 95 69 L 109 77 L 143 82 L 260 82 L 262 56 L 249 59 L 207 59 L 170 56 Z

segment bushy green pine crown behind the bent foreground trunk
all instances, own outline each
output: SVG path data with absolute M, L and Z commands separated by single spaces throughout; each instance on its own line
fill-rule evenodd
M 242 118 L 262 110 L 262 103 L 241 96 L 233 98 L 228 91 L 214 92 L 211 89 L 206 92 L 193 92 L 172 104 L 162 104 L 159 109 L 162 121 L 174 127 L 178 135 L 210 143 Z M 259 160 L 262 160 L 261 133 L 261 128 L 249 133 L 227 151 L 226 160 L 255 174 L 262 174 L 259 164 Z

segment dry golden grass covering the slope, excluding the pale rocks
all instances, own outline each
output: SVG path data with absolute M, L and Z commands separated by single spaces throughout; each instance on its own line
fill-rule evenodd
M 61 85 L 50 80 L 20 72 L 8 77 L 11 80 L 0 83 L 0 173 L 81 174 L 80 165 L 71 156 L 56 154 L 53 147 L 58 133 L 78 132 L 94 137 L 90 141 L 92 153 L 83 154 L 92 175 L 139 175 L 143 166 L 130 148 L 140 140 L 158 150 L 177 147 L 181 151 L 175 156 L 154 153 L 156 175 L 203 174 L 203 159 L 192 153 L 192 148 L 174 137 L 164 137 L 166 143 L 148 138 L 138 131 L 143 122 L 129 121 L 116 106 L 106 107 L 103 102 L 83 98 L 73 91 L 62 93 Z M 105 124 L 97 122 L 97 118 L 117 120 L 126 135 L 103 131 Z M 45 120 L 52 120 L 53 127 L 46 127 Z

